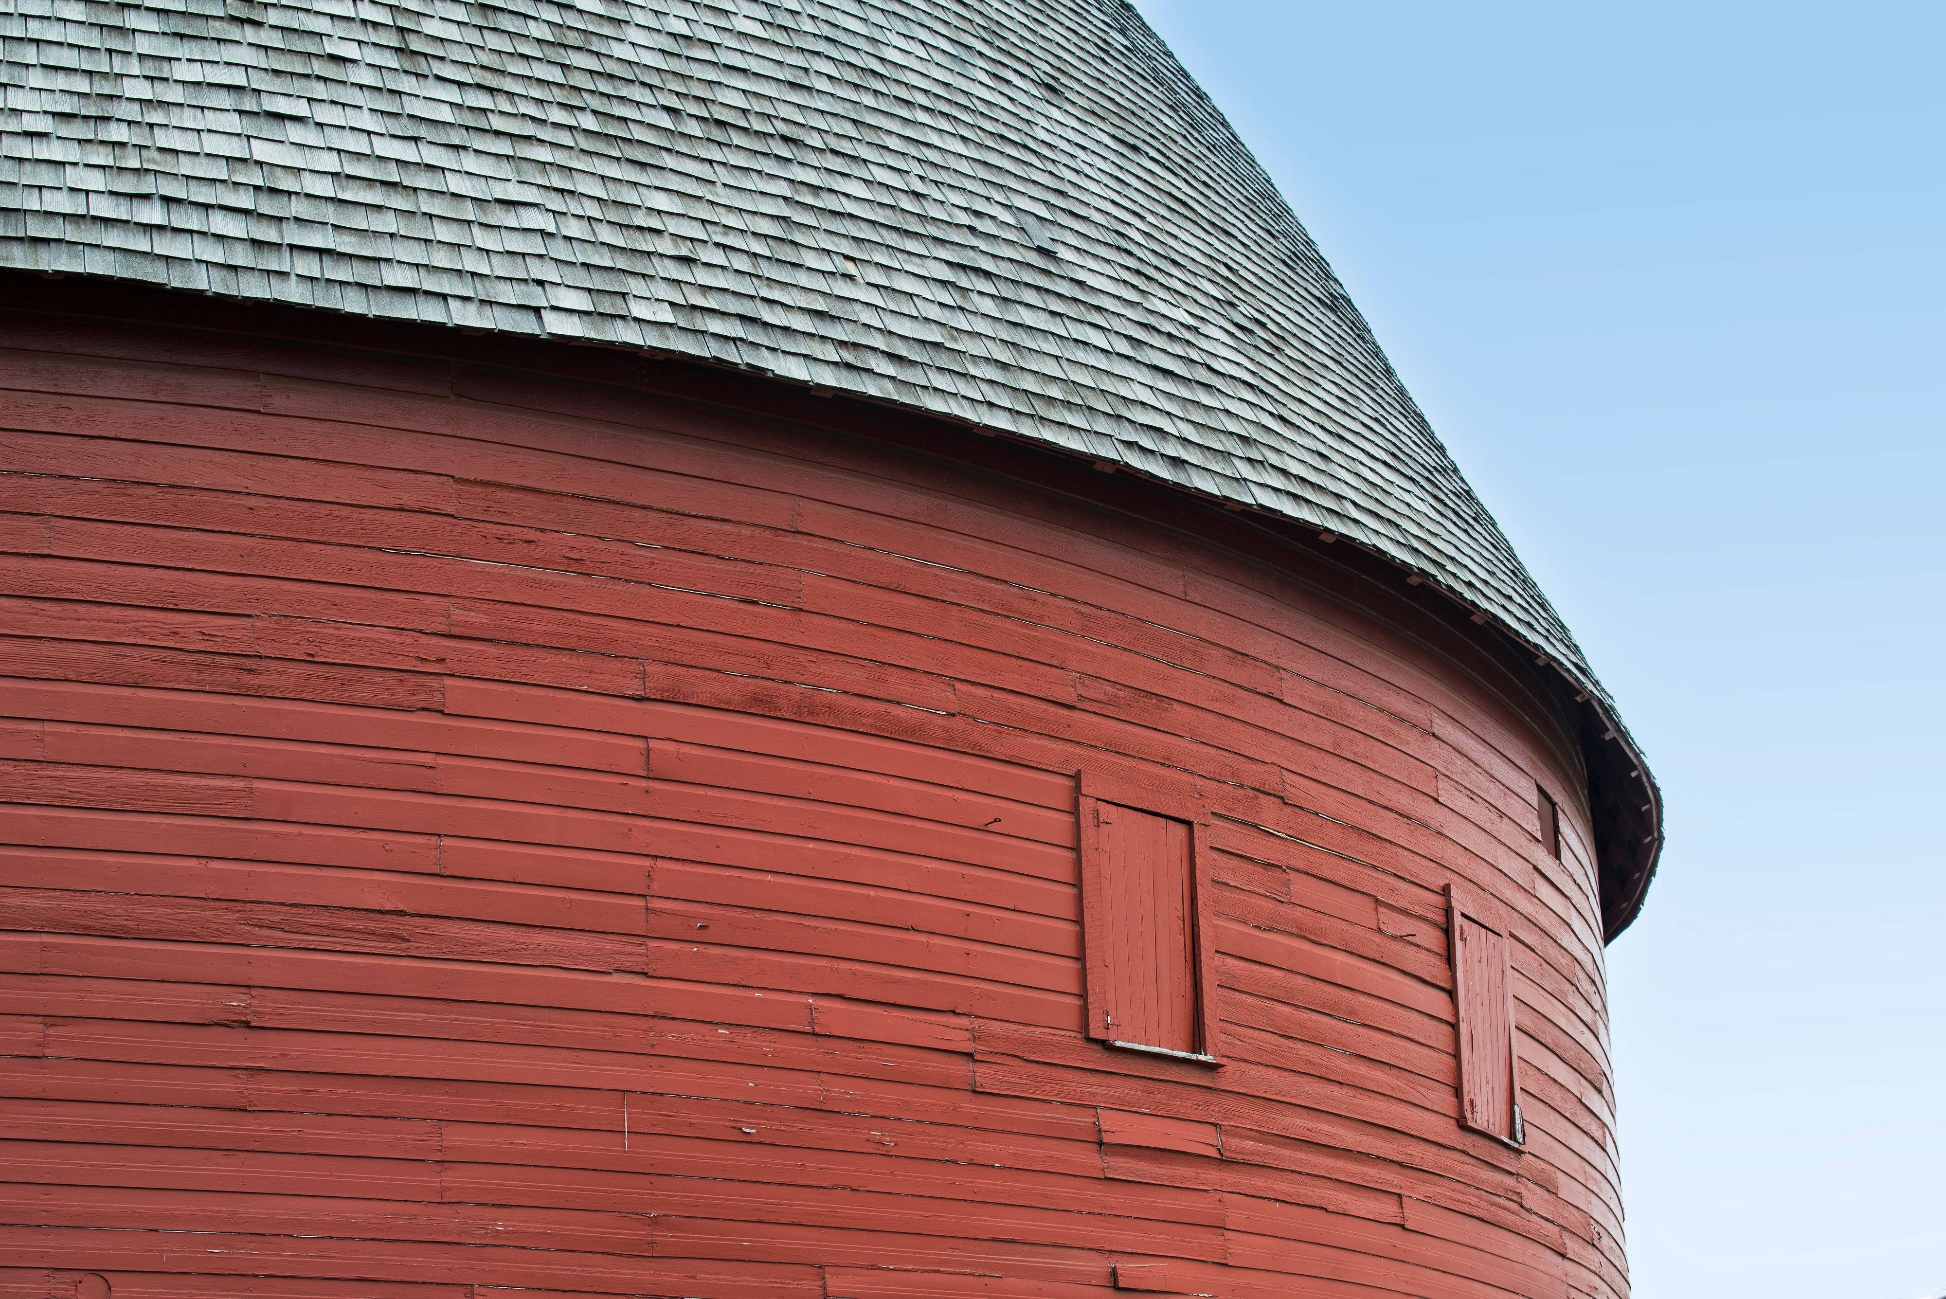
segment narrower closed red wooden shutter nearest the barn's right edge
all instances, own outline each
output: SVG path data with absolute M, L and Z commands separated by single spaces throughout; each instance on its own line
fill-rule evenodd
M 1471 893 L 1448 887 L 1454 1011 L 1460 1036 L 1460 1122 L 1520 1145 L 1514 988 L 1506 924 Z

